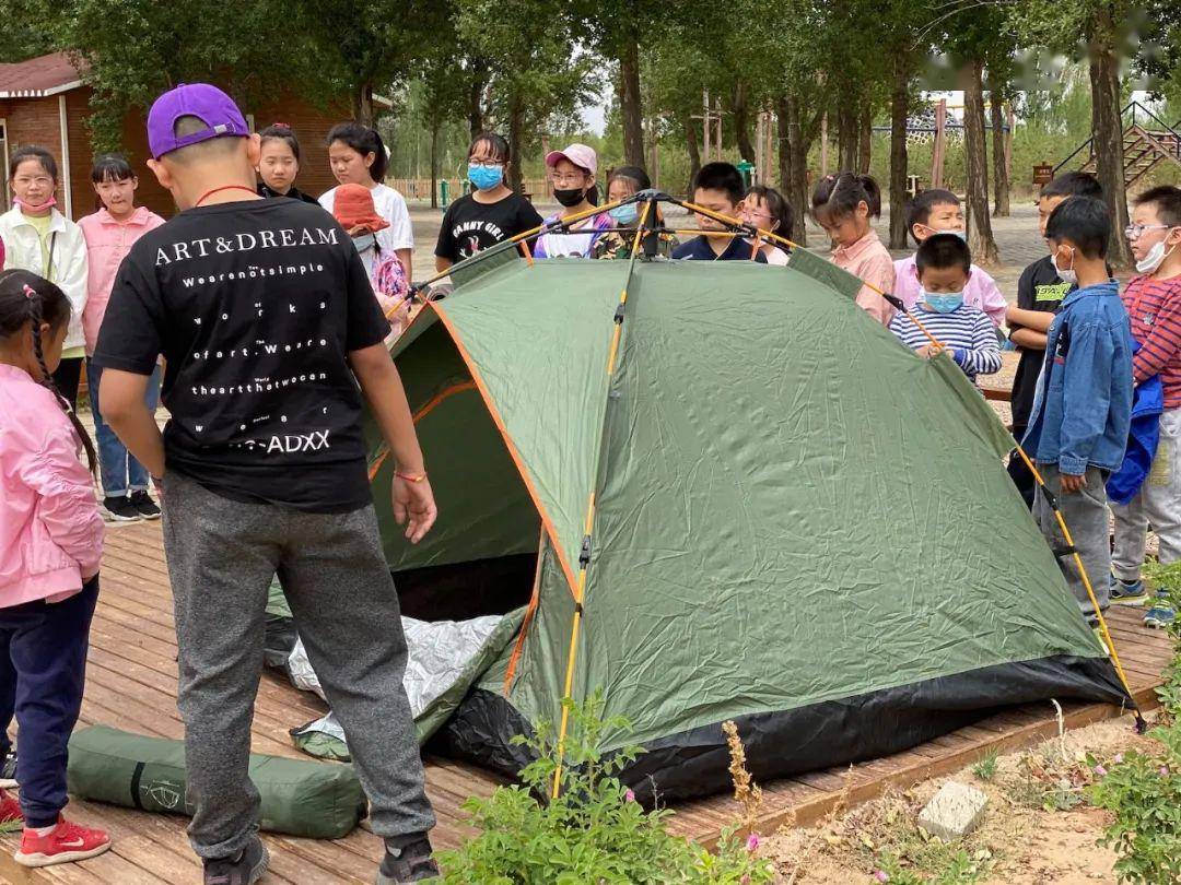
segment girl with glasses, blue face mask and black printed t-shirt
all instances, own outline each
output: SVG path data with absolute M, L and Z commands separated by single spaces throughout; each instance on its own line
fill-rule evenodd
M 533 204 L 505 184 L 508 163 L 509 144 L 504 138 L 482 132 L 472 139 L 468 149 L 471 192 L 455 201 L 443 216 L 435 245 L 439 273 L 541 224 Z

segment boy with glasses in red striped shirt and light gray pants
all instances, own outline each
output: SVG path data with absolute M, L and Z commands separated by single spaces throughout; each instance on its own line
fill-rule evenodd
M 1111 602 L 1135 605 L 1147 597 L 1140 570 L 1149 524 L 1160 538 L 1161 563 L 1181 559 L 1181 189 L 1162 185 L 1141 194 L 1125 232 L 1140 271 L 1123 293 L 1131 336 L 1140 342 L 1133 379 L 1138 385 L 1160 375 L 1164 388 L 1161 437 L 1148 477 L 1131 502 L 1111 506 Z M 1149 627 L 1176 618 L 1163 599 L 1154 602 L 1144 616 Z

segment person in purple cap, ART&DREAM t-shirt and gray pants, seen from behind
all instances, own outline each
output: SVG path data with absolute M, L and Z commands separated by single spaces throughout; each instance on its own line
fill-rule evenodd
M 397 465 L 393 507 L 435 522 L 390 326 L 348 235 L 318 206 L 254 192 L 259 138 L 220 90 L 148 117 L 182 211 L 119 268 L 94 361 L 103 415 L 163 490 L 180 650 L 189 837 L 209 883 L 257 881 L 267 853 L 250 722 L 276 572 L 385 838 L 379 883 L 437 873 L 435 824 L 403 688 L 406 643 L 361 439 L 361 394 Z M 163 354 L 163 435 L 144 402 Z

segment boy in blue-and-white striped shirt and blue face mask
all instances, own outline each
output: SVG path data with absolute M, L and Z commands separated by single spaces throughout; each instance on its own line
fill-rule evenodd
M 972 274 L 972 253 L 954 234 L 934 234 L 914 254 L 919 275 L 915 313 L 932 335 L 947 349 L 955 365 L 974 384 L 977 375 L 1000 371 L 1000 348 L 992 320 L 978 307 L 964 303 L 964 289 Z M 906 314 L 895 314 L 889 324 L 903 345 L 931 359 L 937 347 Z

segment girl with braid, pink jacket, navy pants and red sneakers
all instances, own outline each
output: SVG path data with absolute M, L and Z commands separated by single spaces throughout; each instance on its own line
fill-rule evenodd
M 20 729 L 20 802 L 0 789 L 0 828 L 24 826 L 24 866 L 83 860 L 110 837 L 65 820 L 66 745 L 81 709 L 98 598 L 103 519 L 94 447 L 53 385 L 71 306 L 27 270 L 0 273 L 0 760 Z

